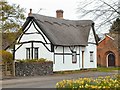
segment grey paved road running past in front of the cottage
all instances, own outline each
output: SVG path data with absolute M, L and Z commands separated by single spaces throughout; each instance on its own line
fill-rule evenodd
M 84 72 L 75 74 L 61 74 L 34 77 L 19 77 L 2 81 L 2 88 L 55 88 L 58 81 L 63 79 L 77 79 L 80 77 L 112 76 L 118 72 Z

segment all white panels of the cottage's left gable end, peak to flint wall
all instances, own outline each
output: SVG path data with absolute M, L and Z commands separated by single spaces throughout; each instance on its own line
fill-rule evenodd
M 35 24 L 35 26 L 37 27 L 36 24 Z M 42 31 L 38 27 L 37 27 L 37 29 L 42 33 Z M 35 32 L 38 32 L 38 31 L 34 28 L 34 26 L 32 24 L 31 27 L 28 29 L 28 31 L 26 31 L 25 33 L 35 33 Z M 43 34 L 43 36 L 45 37 L 45 40 L 47 41 L 47 43 L 50 43 L 50 41 L 47 39 L 47 37 L 44 34 Z M 20 39 L 20 42 L 42 41 L 43 43 L 45 43 L 45 40 L 43 39 L 41 34 L 24 34 L 22 36 L 22 38 Z M 17 48 L 18 46 L 19 45 L 16 45 L 15 48 Z M 38 52 L 38 54 L 39 54 L 38 57 L 39 58 L 46 58 L 47 60 L 52 60 L 53 61 L 53 53 L 49 52 L 42 43 L 34 43 L 33 46 L 34 47 L 39 47 L 39 49 L 38 49 L 38 51 L 39 51 Z M 46 44 L 46 46 L 48 47 L 49 50 L 51 49 L 50 44 Z M 26 48 L 31 48 L 31 43 L 23 44 L 16 51 L 15 59 L 26 59 Z

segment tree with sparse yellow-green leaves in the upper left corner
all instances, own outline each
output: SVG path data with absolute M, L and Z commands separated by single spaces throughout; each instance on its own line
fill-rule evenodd
M 25 9 L 20 5 L 10 5 L 7 1 L 0 1 L 0 30 L 2 32 L 18 31 L 25 19 Z

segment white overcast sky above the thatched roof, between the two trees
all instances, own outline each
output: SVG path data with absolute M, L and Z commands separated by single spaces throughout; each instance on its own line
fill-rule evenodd
M 77 5 L 79 0 L 7 0 L 10 4 L 19 4 L 22 8 L 26 8 L 26 16 L 29 9 L 32 8 L 33 13 L 39 13 L 46 16 L 56 17 L 56 10 L 64 11 L 64 19 L 76 20 Z M 42 10 L 40 10 L 42 8 Z M 39 11 L 40 10 L 40 11 Z

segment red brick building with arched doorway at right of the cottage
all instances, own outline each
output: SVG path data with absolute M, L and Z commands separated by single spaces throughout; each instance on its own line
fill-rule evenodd
M 97 46 L 97 64 L 99 66 L 120 66 L 118 34 L 105 35 Z

